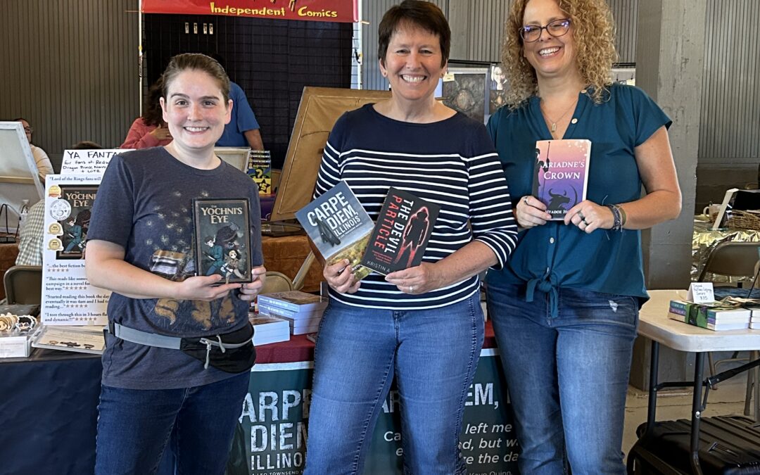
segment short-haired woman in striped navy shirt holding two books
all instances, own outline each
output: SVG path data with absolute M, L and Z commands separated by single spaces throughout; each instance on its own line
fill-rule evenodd
M 459 475 L 464 401 L 483 346 L 478 274 L 505 264 L 517 230 L 483 123 L 435 100 L 451 49 L 441 9 L 414 0 L 392 7 L 378 43 L 391 98 L 337 120 L 315 196 L 344 181 L 375 219 L 394 186 L 441 211 L 420 265 L 360 282 L 348 260 L 325 267 L 330 303 L 315 349 L 304 473 L 362 473 L 395 378 L 404 473 Z

